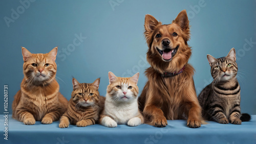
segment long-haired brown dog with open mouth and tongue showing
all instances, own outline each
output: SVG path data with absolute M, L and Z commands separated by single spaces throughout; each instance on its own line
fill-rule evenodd
M 145 71 L 148 79 L 139 98 L 147 124 L 165 127 L 166 119 L 186 119 L 190 128 L 201 127 L 201 107 L 195 90 L 194 68 L 188 64 L 191 47 L 186 10 L 169 25 L 145 16 L 145 38 L 149 47 Z

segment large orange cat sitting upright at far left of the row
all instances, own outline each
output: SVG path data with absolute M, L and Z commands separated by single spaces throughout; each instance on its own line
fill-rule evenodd
M 24 79 L 14 95 L 12 117 L 25 125 L 51 124 L 66 111 L 68 100 L 55 79 L 57 47 L 48 54 L 31 54 L 22 47 Z

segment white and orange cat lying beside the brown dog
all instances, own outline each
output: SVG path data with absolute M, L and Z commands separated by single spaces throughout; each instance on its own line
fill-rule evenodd
M 144 123 L 142 114 L 138 108 L 137 86 L 139 73 L 131 78 L 116 77 L 109 72 L 106 100 L 99 122 L 105 127 L 117 127 L 119 124 L 138 126 Z

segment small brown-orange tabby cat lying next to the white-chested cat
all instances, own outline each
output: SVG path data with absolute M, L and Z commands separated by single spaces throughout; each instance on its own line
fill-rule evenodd
M 69 124 L 86 127 L 98 122 L 99 113 L 104 106 L 105 97 L 99 95 L 99 82 L 79 83 L 73 78 L 73 91 L 67 111 L 61 116 L 59 127 L 67 128 Z

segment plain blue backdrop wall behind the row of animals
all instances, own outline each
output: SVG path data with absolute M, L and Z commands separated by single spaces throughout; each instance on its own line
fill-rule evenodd
M 111 6 L 110 2 L 116 5 Z M 0 3 L 0 83 L 2 89 L 4 85 L 9 88 L 9 112 L 24 77 L 20 46 L 31 53 L 48 53 L 58 46 L 57 81 L 60 92 L 68 100 L 72 77 L 80 83 L 92 83 L 100 77 L 99 91 L 105 95 L 109 71 L 119 77 L 140 72 L 138 86 L 142 91 L 147 81 L 143 73 L 149 67 L 145 59 L 148 47 L 143 36 L 145 14 L 168 24 L 186 9 L 191 26 L 188 44 L 193 49 L 189 63 L 196 69 L 197 94 L 212 81 L 206 55 L 223 57 L 234 47 L 242 89 L 241 110 L 256 114 L 255 1 L 38 0 L 27 8 L 19 1 Z M 12 9 L 20 13 L 14 19 Z M 13 19 L 9 27 L 6 17 Z M 76 35 L 86 38 L 79 41 Z M 72 48 L 73 41 L 76 44 Z M 2 97 L 0 113 L 4 112 L 3 104 Z

